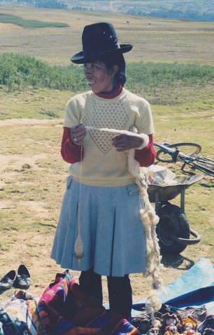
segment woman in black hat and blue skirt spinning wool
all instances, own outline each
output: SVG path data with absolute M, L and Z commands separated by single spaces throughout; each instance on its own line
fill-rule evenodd
M 120 45 L 106 22 L 86 26 L 82 40 L 83 51 L 71 61 L 84 64 L 90 91 L 66 105 L 61 152 L 71 163 L 70 176 L 51 257 L 61 267 L 80 269 L 80 287 L 101 303 L 101 276 L 107 276 L 110 309 L 129 319 L 129 274 L 145 272 L 145 235 L 127 150 L 136 149 L 141 166 L 154 162 L 152 114 L 145 99 L 124 89 L 123 53 L 132 45 Z M 82 258 L 76 257 L 78 237 Z

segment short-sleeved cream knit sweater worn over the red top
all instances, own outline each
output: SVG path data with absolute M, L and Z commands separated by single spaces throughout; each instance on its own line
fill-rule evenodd
M 150 104 L 144 98 L 122 89 L 119 96 L 105 99 L 92 91 L 78 94 L 66 105 L 64 127 L 78 124 L 94 128 L 114 128 L 139 134 L 152 134 L 154 127 Z M 76 181 L 91 186 L 125 186 L 135 183 L 128 171 L 127 152 L 118 152 L 111 144 L 115 133 L 90 129 L 84 140 L 82 175 L 80 163 L 71 164 L 69 173 Z

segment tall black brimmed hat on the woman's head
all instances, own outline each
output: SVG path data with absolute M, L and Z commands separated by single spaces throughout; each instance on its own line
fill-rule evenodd
M 90 61 L 98 60 L 101 56 L 129 52 L 132 49 L 131 44 L 120 45 L 113 25 L 107 22 L 85 26 L 82 43 L 83 51 L 71 57 L 73 63 L 90 63 Z

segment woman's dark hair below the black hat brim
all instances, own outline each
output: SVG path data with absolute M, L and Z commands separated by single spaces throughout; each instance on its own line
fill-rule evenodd
M 99 57 L 99 61 L 102 61 L 104 64 L 106 64 L 106 68 L 110 70 L 113 68 L 114 65 L 118 66 L 118 71 L 115 75 L 115 80 L 117 81 L 117 84 L 122 84 L 124 86 L 125 82 L 127 81 L 125 70 L 126 70 L 126 64 L 124 61 L 124 57 L 122 53 L 113 53 L 108 54 L 104 56 Z

